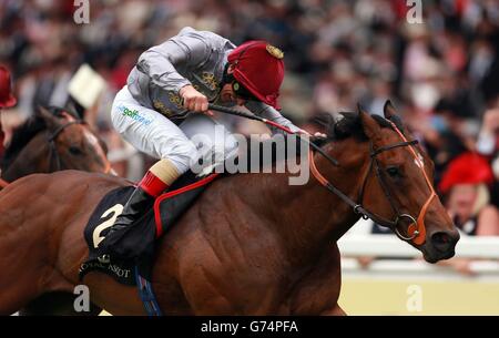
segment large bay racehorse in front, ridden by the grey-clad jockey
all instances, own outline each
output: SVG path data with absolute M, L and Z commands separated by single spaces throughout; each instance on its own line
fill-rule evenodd
M 165 314 L 344 314 L 336 242 L 361 213 L 385 219 L 429 263 L 454 256 L 459 234 L 435 195 L 432 162 L 396 126 L 391 104 L 386 119 L 361 110 L 343 115 L 322 144 L 339 165 L 310 153 L 315 173 L 299 186 L 276 173 L 214 181 L 156 243 L 152 285 Z M 125 185 L 64 171 L 21 178 L 0 193 L 0 314 L 54 290 L 73 293 L 88 256 L 83 228 L 99 201 Z M 109 313 L 145 314 L 135 287 L 95 272 L 83 283 Z

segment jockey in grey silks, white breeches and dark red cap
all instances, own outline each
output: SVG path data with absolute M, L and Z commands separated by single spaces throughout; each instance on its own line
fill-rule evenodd
M 277 111 L 283 78 L 283 52 L 265 41 L 236 48 L 215 33 L 187 27 L 145 51 L 128 85 L 116 94 L 111 119 L 128 142 L 159 161 L 140 181 L 100 249 L 109 252 L 124 233 L 121 229 L 134 223 L 198 158 L 186 130 L 212 133 L 208 129 L 216 124 L 208 117 L 213 115 L 208 102 L 244 105 L 254 114 L 301 132 Z M 190 116 L 202 119 L 193 119 L 190 126 L 185 124 Z

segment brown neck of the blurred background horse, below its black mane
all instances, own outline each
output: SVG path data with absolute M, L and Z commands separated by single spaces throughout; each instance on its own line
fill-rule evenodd
M 44 136 L 43 132 L 39 133 L 20 151 L 16 160 L 2 172 L 3 180 L 12 182 L 30 174 L 49 172 L 50 154 Z

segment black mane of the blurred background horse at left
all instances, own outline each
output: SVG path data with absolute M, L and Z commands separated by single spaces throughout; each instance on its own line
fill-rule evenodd
M 73 116 L 77 116 L 74 112 L 69 109 L 62 109 L 59 106 L 49 106 L 47 109 L 53 116 L 62 117 L 62 112 L 68 112 Z M 7 145 L 3 153 L 3 158 L 0 164 L 0 168 L 6 171 L 17 158 L 21 150 L 41 131 L 47 130 L 47 124 L 40 114 L 34 114 L 29 117 L 22 125 L 16 129 L 12 133 L 12 139 Z

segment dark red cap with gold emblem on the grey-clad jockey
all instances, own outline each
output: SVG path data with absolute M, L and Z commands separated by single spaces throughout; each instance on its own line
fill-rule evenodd
M 256 99 L 279 109 L 277 98 L 284 79 L 284 53 L 266 41 L 248 41 L 228 54 L 234 78 Z

